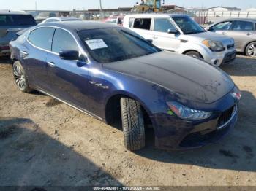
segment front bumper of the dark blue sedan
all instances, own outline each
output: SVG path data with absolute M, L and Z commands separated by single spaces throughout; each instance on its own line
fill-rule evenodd
M 194 149 L 222 139 L 236 124 L 238 100 L 227 101 L 223 98 L 215 104 L 226 105 L 219 112 L 213 112 L 207 120 L 182 120 L 164 113 L 152 116 L 155 146 L 159 149 L 171 150 Z M 227 112 L 230 112 L 228 118 L 225 116 Z M 220 123 L 222 117 L 226 119 L 225 122 Z

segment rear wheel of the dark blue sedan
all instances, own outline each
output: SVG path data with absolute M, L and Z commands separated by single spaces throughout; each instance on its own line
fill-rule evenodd
M 30 93 L 32 89 L 29 87 L 25 70 L 19 61 L 15 61 L 15 63 L 13 63 L 12 73 L 15 79 L 15 84 L 18 86 L 18 88 L 23 91 L 23 93 Z

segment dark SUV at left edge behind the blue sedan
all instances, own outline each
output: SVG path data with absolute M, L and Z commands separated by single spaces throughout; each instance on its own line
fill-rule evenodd
M 9 42 L 17 38 L 17 32 L 24 28 L 36 26 L 32 15 L 26 12 L 0 12 L 0 56 L 10 55 Z

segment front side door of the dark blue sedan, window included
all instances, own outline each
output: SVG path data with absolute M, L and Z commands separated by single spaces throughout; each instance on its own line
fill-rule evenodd
M 80 109 L 86 109 L 89 66 L 85 61 L 61 59 L 59 52 L 67 50 L 80 51 L 80 48 L 69 31 L 56 28 L 52 51 L 47 55 L 49 93 Z

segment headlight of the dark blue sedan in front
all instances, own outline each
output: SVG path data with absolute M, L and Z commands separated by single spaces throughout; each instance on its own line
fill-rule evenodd
M 211 116 L 211 112 L 190 109 L 187 106 L 178 104 L 177 102 L 167 102 L 167 105 L 172 112 L 184 120 L 204 120 Z

